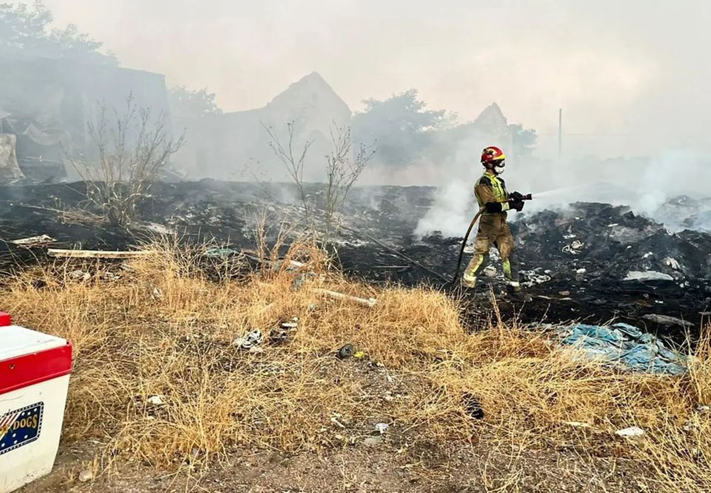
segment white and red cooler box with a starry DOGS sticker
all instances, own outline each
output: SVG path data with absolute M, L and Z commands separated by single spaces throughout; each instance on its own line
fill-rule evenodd
M 52 470 L 71 371 L 70 342 L 0 313 L 0 493 Z

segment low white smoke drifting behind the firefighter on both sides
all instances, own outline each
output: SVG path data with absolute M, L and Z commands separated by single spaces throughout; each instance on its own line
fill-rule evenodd
M 563 163 L 512 159 L 505 178 L 509 191 L 533 193 L 533 200 L 525 203 L 528 214 L 572 202 L 606 202 L 627 205 L 635 214 L 661 222 L 670 231 L 711 229 L 711 200 L 699 200 L 711 196 L 707 185 L 711 183 L 711 163 L 707 161 L 689 150 L 670 150 L 653 158 L 587 158 Z M 469 176 L 466 179 L 461 166 L 451 170 L 448 178 L 441 177 L 446 184 L 437 191 L 432 209 L 418 222 L 417 236 L 434 231 L 461 236 L 476 213 L 476 173 L 464 173 Z M 669 202 L 680 195 L 689 198 Z M 520 215 L 512 214 L 510 220 L 517 217 Z

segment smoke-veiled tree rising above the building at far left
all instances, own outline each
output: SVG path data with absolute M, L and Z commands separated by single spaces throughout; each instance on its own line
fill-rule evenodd
M 102 43 L 69 24 L 50 29 L 52 13 L 41 0 L 33 6 L 0 4 L 0 58 L 70 58 L 117 64 L 114 55 L 99 53 Z

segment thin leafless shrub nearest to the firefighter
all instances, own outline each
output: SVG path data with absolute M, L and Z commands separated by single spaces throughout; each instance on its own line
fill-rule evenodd
M 326 234 L 331 231 L 333 216 L 341 210 L 353 183 L 363 173 L 365 165 L 375 156 L 375 143 L 360 143 L 353 152 L 351 128 L 333 124 L 330 130 L 333 148 L 326 156 Z

